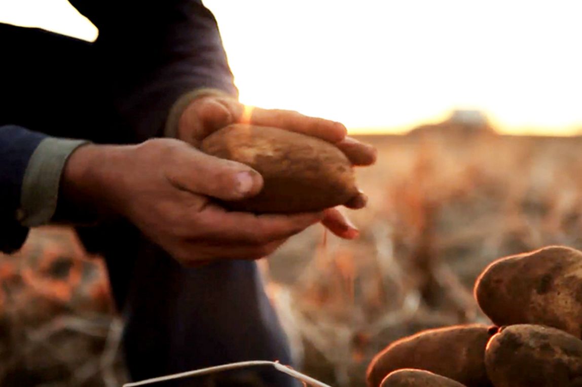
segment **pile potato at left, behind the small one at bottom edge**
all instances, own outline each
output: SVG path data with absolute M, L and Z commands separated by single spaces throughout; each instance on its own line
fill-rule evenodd
M 485 345 L 496 331 L 486 325 L 459 325 L 395 341 L 371 361 L 368 386 L 378 387 L 386 375 L 402 368 L 434 372 L 468 387 L 491 386 L 485 372 Z

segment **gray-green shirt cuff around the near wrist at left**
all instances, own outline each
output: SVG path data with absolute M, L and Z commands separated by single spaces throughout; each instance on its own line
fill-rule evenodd
M 66 160 L 85 140 L 45 138 L 30 157 L 20 191 L 17 218 L 26 227 L 47 224 L 55 214 Z

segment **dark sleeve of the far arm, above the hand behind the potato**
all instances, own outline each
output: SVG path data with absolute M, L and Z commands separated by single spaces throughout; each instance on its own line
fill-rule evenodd
M 99 30 L 97 58 L 116 110 L 143 141 L 162 134 L 183 94 L 237 96 L 217 22 L 196 0 L 70 0 Z

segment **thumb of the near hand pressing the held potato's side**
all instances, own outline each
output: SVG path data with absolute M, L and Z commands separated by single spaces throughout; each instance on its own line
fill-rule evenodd
M 184 144 L 176 149 L 169 178 L 176 187 L 221 200 L 240 200 L 257 195 L 261 175 L 251 167 L 207 155 Z

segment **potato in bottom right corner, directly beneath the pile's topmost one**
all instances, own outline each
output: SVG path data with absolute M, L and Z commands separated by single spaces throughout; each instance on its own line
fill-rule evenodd
M 495 387 L 582 386 L 582 340 L 541 325 L 511 325 L 489 341 L 485 367 Z

